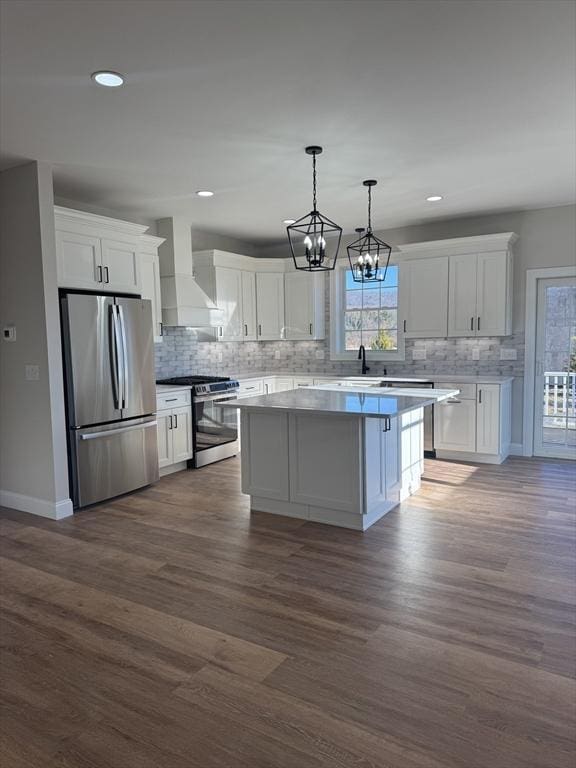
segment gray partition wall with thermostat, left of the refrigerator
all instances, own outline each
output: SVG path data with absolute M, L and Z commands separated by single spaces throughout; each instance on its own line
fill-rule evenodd
M 68 492 L 51 169 L 28 163 L 0 174 L 0 500 L 61 517 Z M 38 365 L 38 381 L 25 366 Z

